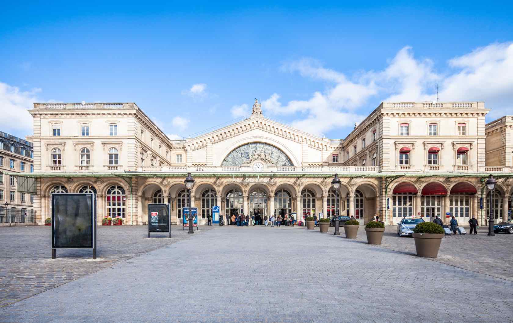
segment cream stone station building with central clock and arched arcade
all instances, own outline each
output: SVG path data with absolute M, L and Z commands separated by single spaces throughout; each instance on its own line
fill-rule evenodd
M 499 181 L 494 216 L 510 216 L 513 172 L 486 164 L 493 153 L 482 102 L 382 103 L 344 139 L 275 122 L 257 100 L 248 118 L 184 140 L 170 140 L 134 103 L 35 103 L 29 112 L 34 173 L 24 175 L 36 179 L 38 223 L 51 214 L 52 193 L 95 192 L 98 223 L 121 216 L 146 224 L 149 203 L 169 203 L 180 224 L 190 200 L 200 224 L 219 206 L 225 217 L 338 211 L 393 225 L 450 214 L 484 225 L 489 174 Z M 187 172 L 195 178 L 190 195 Z M 334 191 L 336 173 L 343 183 Z

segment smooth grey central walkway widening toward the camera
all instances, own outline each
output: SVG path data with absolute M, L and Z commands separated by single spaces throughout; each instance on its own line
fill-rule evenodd
M 511 281 L 289 227 L 210 230 L 0 309 L 2 322 L 512 320 Z

